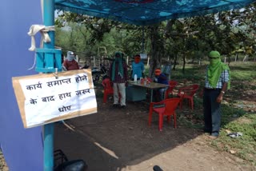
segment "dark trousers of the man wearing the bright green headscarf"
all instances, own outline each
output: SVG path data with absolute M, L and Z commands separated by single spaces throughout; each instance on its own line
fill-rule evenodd
M 221 89 L 204 89 L 203 113 L 205 132 L 218 133 L 221 126 L 221 103 L 216 101 Z

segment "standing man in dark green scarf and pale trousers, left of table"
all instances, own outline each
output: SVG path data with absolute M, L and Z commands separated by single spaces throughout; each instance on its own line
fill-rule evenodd
M 114 83 L 114 107 L 118 107 L 119 94 L 121 108 L 126 108 L 126 85 L 128 80 L 128 72 L 126 60 L 121 52 L 114 54 L 115 59 L 110 66 L 110 78 Z

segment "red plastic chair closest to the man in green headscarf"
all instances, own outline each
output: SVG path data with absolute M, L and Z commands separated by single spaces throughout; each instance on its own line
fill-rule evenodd
M 191 109 L 194 109 L 194 93 L 199 89 L 198 84 L 182 87 L 178 89 L 178 97 L 181 97 L 180 109 L 182 109 L 182 101 L 188 99 Z

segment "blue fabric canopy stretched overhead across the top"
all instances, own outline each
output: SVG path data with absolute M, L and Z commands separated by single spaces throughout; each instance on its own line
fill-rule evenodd
M 109 18 L 138 26 L 240 9 L 252 0 L 55 0 L 56 10 Z

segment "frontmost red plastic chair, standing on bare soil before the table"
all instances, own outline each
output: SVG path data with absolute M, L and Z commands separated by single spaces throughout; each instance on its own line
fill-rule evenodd
M 181 98 L 167 98 L 160 102 L 151 102 L 150 103 L 150 113 L 149 113 L 149 125 L 151 125 L 152 113 L 158 113 L 159 122 L 158 129 L 162 131 L 163 117 L 167 117 L 167 121 L 170 122 L 170 116 L 174 118 L 174 128 L 177 128 L 176 124 L 176 113 L 175 109 L 177 109 L 178 103 L 181 101 Z

